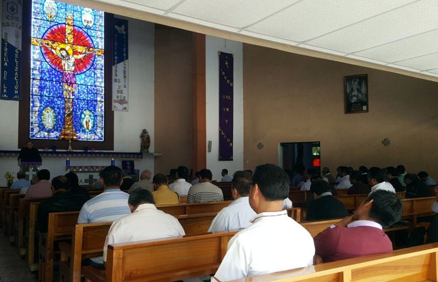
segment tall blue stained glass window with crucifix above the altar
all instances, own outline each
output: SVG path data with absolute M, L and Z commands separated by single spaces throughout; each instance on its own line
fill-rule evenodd
M 103 141 L 104 13 L 32 1 L 30 138 Z

